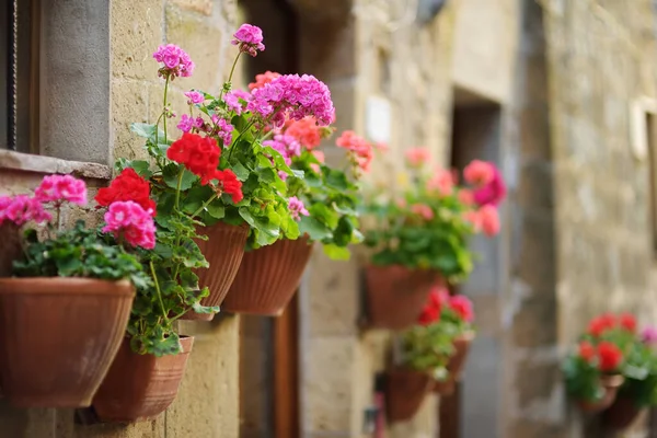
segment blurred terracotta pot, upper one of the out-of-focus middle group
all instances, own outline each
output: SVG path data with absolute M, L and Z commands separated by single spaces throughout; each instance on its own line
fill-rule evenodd
M 401 265 L 367 266 L 367 325 L 402 330 L 416 323 L 438 275 Z

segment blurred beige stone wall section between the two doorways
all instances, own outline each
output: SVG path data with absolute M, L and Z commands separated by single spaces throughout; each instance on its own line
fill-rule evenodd
M 448 160 L 457 2 L 449 2 L 429 24 L 399 28 L 360 12 L 362 3 L 355 1 L 354 12 L 345 10 L 342 18 L 304 13 L 314 9 L 300 8 L 301 70 L 331 88 L 338 130 L 355 129 L 369 136 L 370 97 L 389 102 L 391 124 L 380 122 L 374 129 L 389 132 L 391 150 L 377 157 L 370 182 L 394 189 L 404 149 L 427 146 L 436 162 Z M 331 158 L 330 149 L 327 155 Z M 358 328 L 359 273 L 365 260 L 357 255 L 349 263 L 332 262 L 318 251 L 301 288 L 306 437 L 366 436 L 362 422 L 365 410 L 373 405 L 374 378 L 389 365 L 391 333 Z M 390 425 L 390 436 L 434 435 L 437 418 L 437 401 L 430 396 L 413 422 Z

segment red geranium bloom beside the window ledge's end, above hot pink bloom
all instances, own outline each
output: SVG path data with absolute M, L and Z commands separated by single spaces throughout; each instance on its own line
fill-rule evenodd
M 155 203 L 150 198 L 149 182 L 130 168 L 124 169 L 110 183 L 110 187 L 99 189 L 95 200 L 101 207 L 108 207 L 116 201 L 131 200 L 145 210 L 151 210 L 152 216 L 155 216 Z

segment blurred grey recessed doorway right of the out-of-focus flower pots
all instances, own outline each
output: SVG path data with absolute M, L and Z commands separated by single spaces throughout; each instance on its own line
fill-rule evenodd
M 451 166 L 462 171 L 470 161 L 477 159 L 492 161 L 500 168 L 500 134 L 499 105 L 456 88 Z M 440 399 L 439 438 L 497 436 L 503 339 L 496 326 L 506 272 L 504 239 L 502 232 L 493 239 L 476 235 L 470 242 L 471 250 L 481 257 L 468 281 L 454 291 L 472 299 L 475 318 L 484 313 L 486 316 L 475 320 L 477 336 L 470 348 L 462 382 L 457 385 L 453 395 Z

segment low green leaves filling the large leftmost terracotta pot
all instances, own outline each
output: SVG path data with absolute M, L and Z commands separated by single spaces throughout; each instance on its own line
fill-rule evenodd
M 18 277 L 129 279 L 136 287 L 150 285 L 135 254 L 127 253 L 99 230 L 88 229 L 84 221 L 43 241 L 34 229 L 26 230 L 24 238 L 24 258 L 13 263 Z

